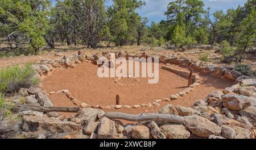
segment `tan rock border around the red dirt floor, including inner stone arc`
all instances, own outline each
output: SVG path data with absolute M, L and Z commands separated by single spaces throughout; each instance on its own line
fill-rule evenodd
M 51 60 L 51 59 L 44 59 L 41 60 L 40 62 L 36 62 L 36 64 L 33 65 L 33 68 L 37 72 L 37 76 L 40 77 L 43 74 L 47 75 L 48 72 L 51 72 L 55 68 L 73 68 L 75 67 L 76 64 L 81 64 L 82 62 L 92 62 L 93 64 L 97 65 L 97 60 L 101 57 L 107 57 L 109 59 L 109 53 L 108 52 L 102 52 L 102 55 L 95 54 L 95 55 L 84 55 L 83 51 L 79 51 L 78 55 L 74 54 L 73 56 L 67 56 L 65 55 L 62 59 L 59 60 Z M 124 52 L 117 52 L 115 53 L 115 57 L 152 57 L 154 60 L 155 56 L 148 56 L 146 55 L 146 52 L 143 52 L 142 55 L 127 55 Z M 159 56 L 158 56 L 159 57 Z M 218 77 L 225 78 L 227 80 L 231 81 L 240 81 L 243 79 L 249 79 L 250 77 L 247 76 L 242 76 L 240 72 L 237 72 L 236 70 L 232 70 L 231 68 L 224 67 L 224 66 L 216 66 L 213 64 L 207 64 L 206 62 L 203 61 L 195 61 L 195 60 L 189 60 L 187 58 L 178 58 L 175 55 L 169 55 L 169 56 L 164 56 L 161 55 L 159 57 L 159 63 L 163 64 L 178 64 L 182 66 L 187 66 L 188 68 L 191 69 L 196 69 L 199 70 L 200 72 L 207 73 L 207 74 L 214 74 L 217 75 Z M 174 69 L 171 68 L 170 66 L 164 65 L 162 69 L 168 70 L 172 73 L 177 74 L 178 76 L 181 76 L 183 78 L 188 78 L 189 73 L 184 71 L 184 70 L 179 70 L 179 69 Z M 74 98 L 71 93 L 69 93 L 68 90 L 60 90 L 57 91 L 56 93 L 61 93 L 63 92 L 72 102 L 73 104 L 80 106 L 82 108 L 84 107 L 92 107 L 92 108 L 100 108 L 100 109 L 130 109 L 130 108 L 135 108 L 137 109 L 138 107 L 152 107 L 152 106 L 159 106 L 159 102 L 163 101 L 171 101 L 174 99 L 179 98 L 180 96 L 183 96 L 184 94 L 189 93 L 190 91 L 193 91 L 195 87 L 197 87 L 200 84 L 199 77 L 193 74 L 192 76 L 192 85 L 184 89 L 183 91 L 180 91 L 177 94 L 171 95 L 170 98 L 163 98 L 163 99 L 156 99 L 152 103 L 147 103 L 147 104 L 140 104 L 140 105 L 109 105 L 109 106 L 90 106 L 84 102 L 81 102 Z M 50 92 L 49 94 L 55 94 L 55 92 Z

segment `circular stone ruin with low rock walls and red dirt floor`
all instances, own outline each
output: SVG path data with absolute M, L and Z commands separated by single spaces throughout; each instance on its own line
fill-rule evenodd
M 226 68 L 176 56 L 160 56 L 159 82 L 148 84 L 148 78 L 100 78 L 97 60 L 102 55 L 64 56 L 60 60 L 42 60 L 34 65 L 42 87 L 55 106 L 80 106 L 121 111 L 123 113 L 155 112 L 160 105 L 191 106 L 209 91 L 223 90 L 234 84 L 241 74 Z M 154 57 L 142 53 L 129 56 L 118 52 L 116 57 Z M 188 87 L 189 69 L 194 70 Z M 42 76 L 42 75 L 46 76 Z M 236 77 L 234 77 L 236 76 Z M 221 84 L 220 84 L 221 83 Z M 119 96 L 119 105 L 116 97 Z

